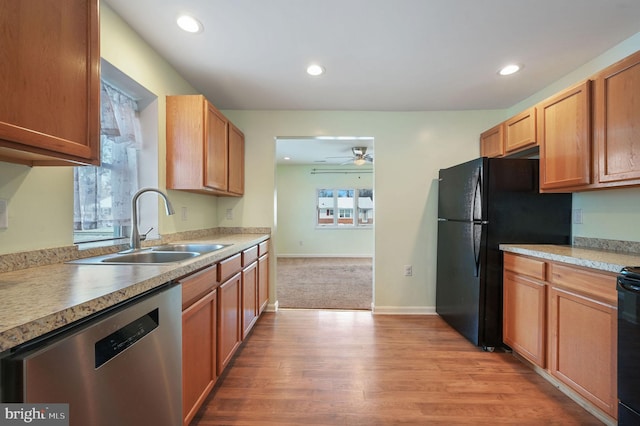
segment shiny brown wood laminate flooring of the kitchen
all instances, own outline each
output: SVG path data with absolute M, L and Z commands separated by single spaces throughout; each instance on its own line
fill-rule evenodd
M 264 313 L 192 425 L 602 424 L 438 316 Z

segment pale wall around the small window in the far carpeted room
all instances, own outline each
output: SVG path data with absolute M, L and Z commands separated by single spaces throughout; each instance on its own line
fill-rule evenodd
M 327 171 L 336 167 L 277 167 L 278 238 L 275 248 L 278 255 L 373 256 L 373 228 L 322 229 L 317 228 L 315 222 L 317 189 L 373 188 L 372 170 L 368 173 L 312 174 L 312 169 Z

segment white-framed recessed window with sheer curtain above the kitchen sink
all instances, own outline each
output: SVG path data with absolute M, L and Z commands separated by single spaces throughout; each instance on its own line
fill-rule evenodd
M 104 59 L 100 69 L 102 164 L 74 169 L 74 242 L 92 247 L 128 237 L 133 194 L 158 186 L 158 97 Z M 157 198 L 141 197 L 138 211 L 157 238 Z

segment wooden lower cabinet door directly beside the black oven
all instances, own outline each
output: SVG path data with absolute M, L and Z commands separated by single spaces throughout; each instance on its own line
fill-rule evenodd
M 617 309 L 551 287 L 549 310 L 551 374 L 616 417 Z

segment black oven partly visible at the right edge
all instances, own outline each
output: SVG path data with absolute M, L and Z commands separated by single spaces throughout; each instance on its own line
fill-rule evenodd
M 640 424 L 640 267 L 618 275 L 618 424 Z

